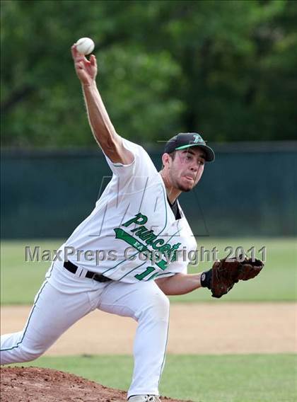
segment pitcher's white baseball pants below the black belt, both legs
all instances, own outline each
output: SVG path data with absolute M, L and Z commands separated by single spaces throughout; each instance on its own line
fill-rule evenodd
M 61 262 L 47 272 L 23 331 L 1 336 L 1 364 L 36 359 L 66 329 L 95 309 L 138 321 L 128 397 L 158 395 L 168 337 L 168 298 L 153 281 L 95 282 L 68 272 Z

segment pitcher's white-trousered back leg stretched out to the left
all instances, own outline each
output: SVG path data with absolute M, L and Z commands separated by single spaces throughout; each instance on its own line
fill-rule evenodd
M 23 331 L 1 336 L 1 364 L 36 359 L 66 329 L 95 308 L 95 305 L 91 305 L 89 292 L 74 292 L 70 276 L 68 280 L 69 289 L 66 288 L 65 292 L 47 280 L 43 283 Z

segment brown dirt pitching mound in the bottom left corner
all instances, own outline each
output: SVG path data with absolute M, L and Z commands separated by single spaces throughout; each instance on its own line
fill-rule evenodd
M 124 402 L 119 389 L 107 388 L 74 374 L 37 367 L 1 368 L 1 402 Z M 161 401 L 182 402 L 163 397 Z M 190 401 L 184 401 L 190 402 Z

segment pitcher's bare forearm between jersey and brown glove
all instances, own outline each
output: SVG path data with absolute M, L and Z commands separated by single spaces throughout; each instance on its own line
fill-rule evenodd
M 176 274 L 156 280 L 160 289 L 168 295 L 186 294 L 201 287 L 199 274 Z

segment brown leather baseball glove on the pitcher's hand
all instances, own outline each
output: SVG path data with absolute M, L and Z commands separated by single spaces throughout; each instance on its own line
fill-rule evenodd
M 241 259 L 241 258 L 240 258 Z M 258 275 L 264 267 L 261 260 L 245 258 L 242 262 L 223 258 L 216 261 L 211 269 L 211 296 L 222 297 L 228 293 L 238 280 L 249 280 Z

